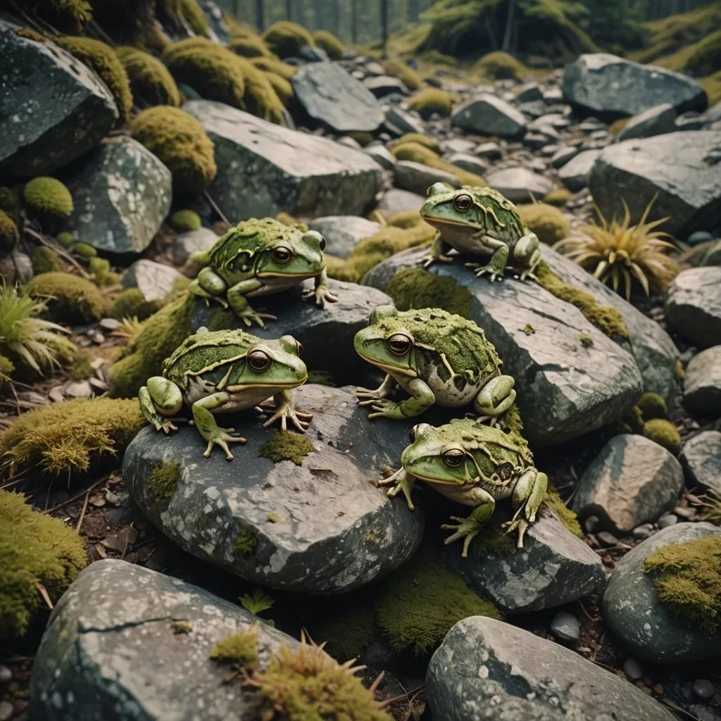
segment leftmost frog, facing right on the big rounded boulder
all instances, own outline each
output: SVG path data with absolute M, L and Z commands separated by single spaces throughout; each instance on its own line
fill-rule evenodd
M 301 432 L 308 428 L 313 415 L 293 407 L 292 389 L 308 379 L 300 354 L 300 343 L 290 335 L 261 340 L 242 330 L 200 328 L 165 359 L 163 375 L 153 376 L 140 389 L 141 411 L 156 430 L 168 433 L 177 430 L 169 419 L 187 403 L 195 428 L 208 441 L 203 456 L 208 458 L 213 446 L 219 446 L 231 461 L 228 443 L 246 439 L 230 435 L 234 428 L 219 428 L 213 414 L 258 407 L 273 396 L 275 413 L 264 426 L 280 419 L 286 430 L 289 418 Z

